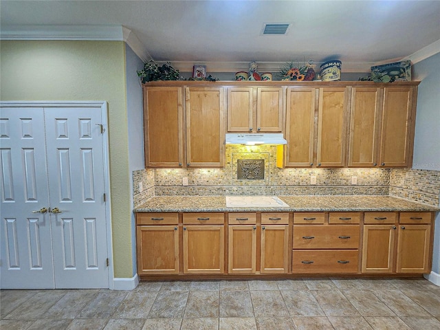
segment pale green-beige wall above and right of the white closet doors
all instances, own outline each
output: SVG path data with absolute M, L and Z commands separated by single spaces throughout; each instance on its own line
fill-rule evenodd
M 133 276 L 124 43 L 1 41 L 0 47 L 1 100 L 108 102 L 114 276 Z

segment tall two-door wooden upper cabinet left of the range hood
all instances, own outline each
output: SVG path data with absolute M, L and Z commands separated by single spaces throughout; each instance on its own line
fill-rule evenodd
M 144 85 L 145 166 L 223 167 L 224 98 L 223 87 Z

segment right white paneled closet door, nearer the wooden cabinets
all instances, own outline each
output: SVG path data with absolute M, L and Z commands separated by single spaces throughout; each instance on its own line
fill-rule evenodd
M 100 109 L 46 108 L 56 288 L 109 287 Z

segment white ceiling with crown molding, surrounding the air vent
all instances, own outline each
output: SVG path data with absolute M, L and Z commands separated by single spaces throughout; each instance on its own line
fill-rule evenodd
M 29 32 L 122 25 L 137 37 L 144 61 L 170 61 L 179 69 L 208 63 L 208 72 L 309 58 L 339 59 L 344 71 L 367 72 L 371 65 L 440 52 L 440 1 L 1 0 L 0 14 L 3 39 L 23 34 L 23 26 Z M 285 36 L 263 36 L 264 23 L 291 25 Z

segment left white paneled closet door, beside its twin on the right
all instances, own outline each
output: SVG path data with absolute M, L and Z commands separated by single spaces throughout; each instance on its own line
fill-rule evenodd
M 0 109 L 1 288 L 54 288 L 42 108 Z

